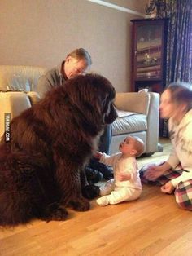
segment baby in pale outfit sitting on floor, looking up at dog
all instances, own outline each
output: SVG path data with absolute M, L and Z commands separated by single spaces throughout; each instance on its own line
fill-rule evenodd
M 98 205 L 115 205 L 122 201 L 136 200 L 142 193 L 136 157 L 144 152 L 144 143 L 138 137 L 128 136 L 120 143 L 120 152 L 107 156 L 97 152 L 94 157 L 105 165 L 112 166 L 114 179 L 100 188 Z

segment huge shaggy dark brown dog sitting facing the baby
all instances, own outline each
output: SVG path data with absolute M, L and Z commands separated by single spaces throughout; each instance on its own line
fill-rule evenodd
M 11 140 L 0 144 L 0 225 L 63 220 L 65 207 L 89 210 L 80 172 L 116 119 L 114 97 L 105 77 L 78 76 L 11 121 Z

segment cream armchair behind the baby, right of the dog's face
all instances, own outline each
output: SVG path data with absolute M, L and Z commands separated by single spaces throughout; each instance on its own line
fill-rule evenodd
M 117 93 L 115 105 L 119 117 L 112 124 L 110 152 L 119 151 L 119 143 L 127 135 L 135 135 L 145 143 L 146 155 L 158 151 L 159 94 L 155 92 Z M 120 110 L 120 111 L 118 111 Z

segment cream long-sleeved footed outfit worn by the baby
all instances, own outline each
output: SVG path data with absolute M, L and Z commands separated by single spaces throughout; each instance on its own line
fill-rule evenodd
M 100 159 L 105 165 L 112 166 L 114 179 L 110 179 L 100 188 L 98 205 L 115 205 L 122 201 L 136 200 L 142 193 L 142 183 L 139 177 L 139 170 L 135 157 L 122 157 L 122 153 L 107 156 L 103 153 Z M 131 174 L 131 179 L 126 181 L 118 180 L 117 174 Z

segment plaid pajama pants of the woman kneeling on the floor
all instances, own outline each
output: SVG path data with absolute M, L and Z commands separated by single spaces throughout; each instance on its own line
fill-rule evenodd
M 162 164 L 162 163 L 158 163 L 154 165 L 159 165 L 159 164 Z M 185 171 L 181 169 L 181 166 L 177 166 L 176 170 L 168 170 L 164 175 L 160 176 L 155 181 L 151 181 L 151 180 L 145 179 L 143 176 L 143 174 L 145 173 L 148 167 L 149 165 L 143 166 L 142 169 L 140 170 L 140 177 L 141 177 L 142 183 L 153 184 L 158 186 L 162 186 L 168 181 L 177 178 L 182 174 L 183 171 Z M 192 179 L 189 179 L 185 182 L 178 183 L 174 194 L 175 194 L 177 205 L 179 205 L 183 209 L 192 210 Z

